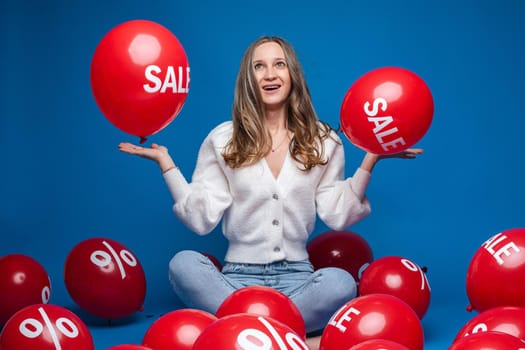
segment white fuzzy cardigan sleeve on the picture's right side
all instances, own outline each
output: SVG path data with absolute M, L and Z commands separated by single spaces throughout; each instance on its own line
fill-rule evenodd
M 319 218 L 333 230 L 343 230 L 371 211 L 365 195 L 370 173 L 358 168 L 353 177 L 344 179 L 344 167 L 344 149 L 337 143 L 316 191 Z

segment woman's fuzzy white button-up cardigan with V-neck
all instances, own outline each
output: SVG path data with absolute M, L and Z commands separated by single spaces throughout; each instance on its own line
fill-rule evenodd
M 228 167 L 222 152 L 231 135 L 231 121 L 209 133 L 191 183 L 178 168 L 164 174 L 173 211 L 188 228 L 205 235 L 222 219 L 230 243 L 225 261 L 304 260 L 316 214 L 331 229 L 343 230 L 370 213 L 365 196 L 370 173 L 358 168 L 352 178 L 344 178 L 344 150 L 335 132 L 337 142 L 324 141 L 326 165 L 305 172 L 288 154 L 278 178 L 264 158 L 251 166 Z

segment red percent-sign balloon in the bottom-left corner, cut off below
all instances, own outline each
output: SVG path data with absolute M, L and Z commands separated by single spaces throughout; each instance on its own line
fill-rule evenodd
M 15 313 L 0 333 L 0 349 L 94 350 L 88 327 L 57 305 L 34 304 Z

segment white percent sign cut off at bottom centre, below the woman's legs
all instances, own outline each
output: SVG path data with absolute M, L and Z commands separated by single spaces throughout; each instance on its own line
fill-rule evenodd
M 288 350 L 288 347 L 286 344 L 291 346 L 292 350 L 308 350 L 308 346 L 304 343 L 304 341 L 299 337 L 299 335 L 288 332 L 285 335 L 285 339 L 279 335 L 279 332 L 275 329 L 274 326 L 270 322 L 268 322 L 264 317 L 259 316 L 257 318 L 263 326 L 270 332 L 272 338 L 277 342 L 277 345 L 279 345 L 280 350 Z M 253 340 L 257 340 L 260 344 L 254 344 Z M 286 343 L 285 343 L 286 340 Z M 243 330 L 239 333 L 237 336 L 237 342 L 244 350 L 272 350 L 272 339 L 265 334 L 264 332 L 254 329 L 254 328 L 248 328 Z

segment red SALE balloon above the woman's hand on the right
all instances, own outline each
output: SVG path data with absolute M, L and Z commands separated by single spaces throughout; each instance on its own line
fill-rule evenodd
M 432 93 L 423 79 L 404 68 L 383 67 L 364 74 L 348 89 L 340 119 L 354 145 L 392 154 L 418 142 L 433 114 Z

